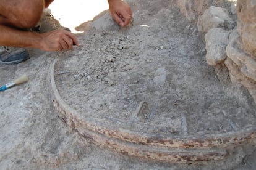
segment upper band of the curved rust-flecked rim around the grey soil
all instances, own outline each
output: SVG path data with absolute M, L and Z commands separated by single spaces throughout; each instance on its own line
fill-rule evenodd
M 132 134 L 132 132 L 124 132 L 121 130 L 108 129 L 106 127 L 96 126 L 87 119 L 79 119 L 80 115 L 76 110 L 72 109 L 67 105 L 66 102 L 61 98 L 56 87 L 54 78 L 54 68 L 56 60 L 51 66 L 51 88 L 53 90 L 54 97 L 58 107 L 61 108 L 59 111 L 64 111 L 66 116 L 70 116 L 75 122 L 82 125 L 82 128 L 86 128 L 92 132 L 101 134 L 108 138 L 115 138 L 124 142 L 133 142 L 135 144 L 151 145 L 159 147 L 171 147 L 171 148 L 203 148 L 203 147 L 224 147 L 229 144 L 238 144 L 246 140 L 254 139 L 256 137 L 256 127 L 249 127 L 242 131 L 226 132 L 221 134 L 207 134 L 204 136 L 185 136 L 185 137 L 174 137 L 169 139 L 155 139 L 147 136 L 138 136 Z M 64 116 L 64 115 L 63 115 Z

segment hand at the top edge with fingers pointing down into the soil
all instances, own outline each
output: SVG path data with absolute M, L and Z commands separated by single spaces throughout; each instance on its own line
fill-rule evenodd
M 121 26 L 126 26 L 132 19 L 132 10 L 129 5 L 122 0 L 108 0 L 109 12 L 116 22 Z

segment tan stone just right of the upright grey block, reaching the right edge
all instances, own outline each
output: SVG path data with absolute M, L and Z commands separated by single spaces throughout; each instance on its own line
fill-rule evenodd
M 240 68 L 242 74 L 256 81 L 256 60 L 244 52 L 244 46 L 237 30 L 230 34 L 230 42 L 226 48 L 226 54 Z

